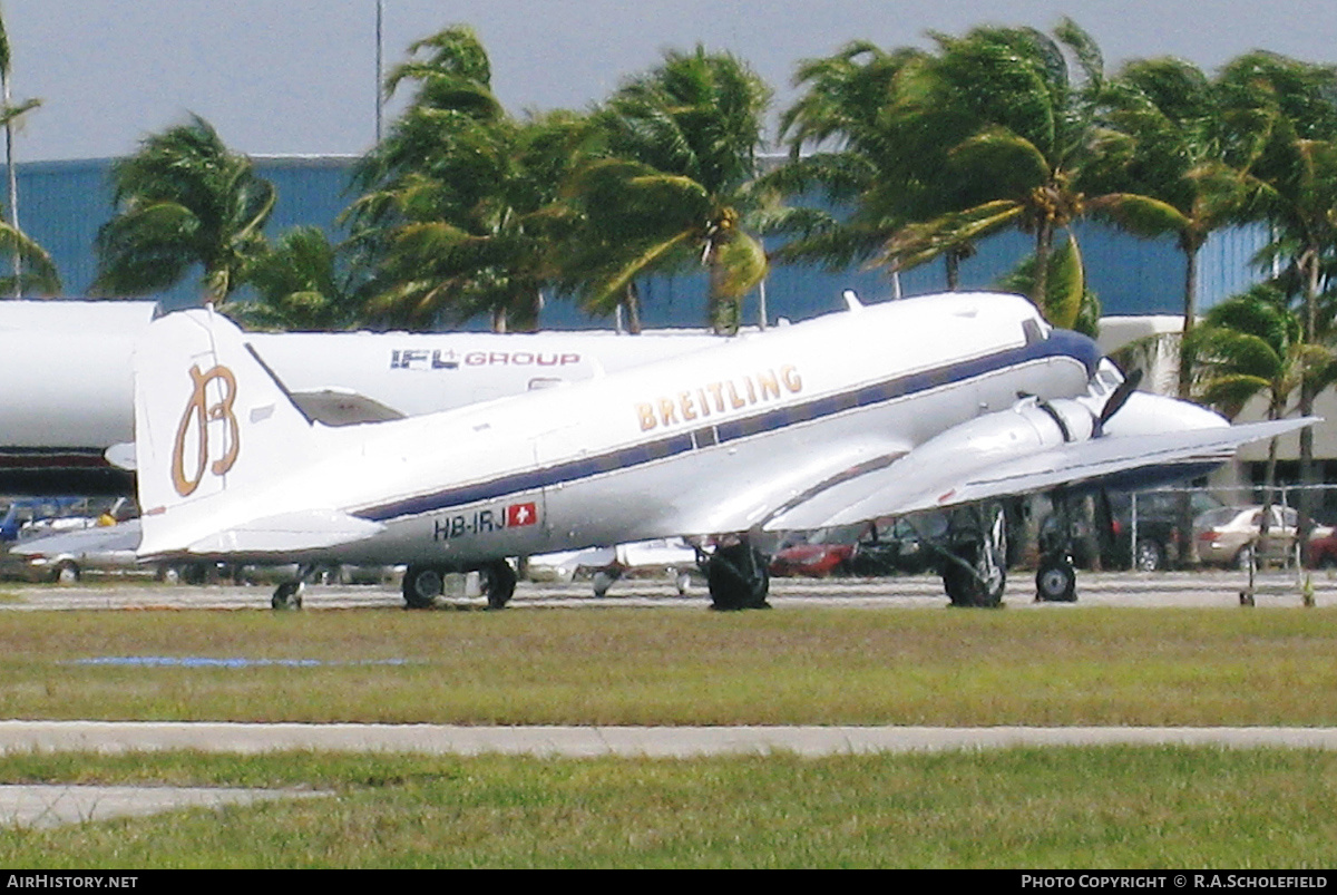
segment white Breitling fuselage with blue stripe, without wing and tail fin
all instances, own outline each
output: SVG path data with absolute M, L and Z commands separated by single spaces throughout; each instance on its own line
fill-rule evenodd
M 540 393 L 322 431 L 287 472 L 175 511 L 170 532 L 146 516 L 142 554 L 294 508 L 384 526 L 309 554 L 344 562 L 467 565 L 747 531 L 813 482 L 1020 393 L 1083 395 L 1098 361 L 1094 342 L 1051 332 L 1012 296 L 868 306 Z

